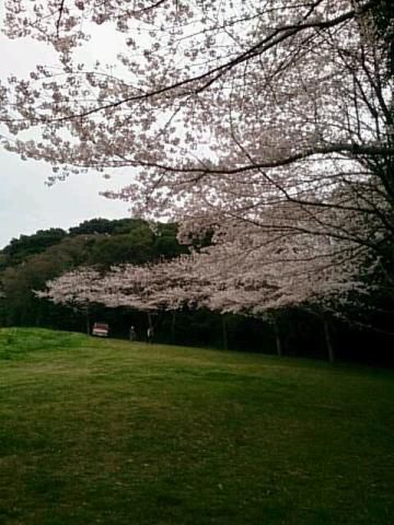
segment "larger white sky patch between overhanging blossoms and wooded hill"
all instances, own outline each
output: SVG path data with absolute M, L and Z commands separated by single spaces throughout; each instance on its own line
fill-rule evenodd
M 34 161 L 21 161 L 0 151 L 0 248 L 12 237 L 37 230 L 67 230 L 86 219 L 128 217 L 128 206 L 108 200 L 99 191 L 124 186 L 96 174 L 78 175 L 51 187 L 45 185 L 50 168 Z M 126 177 L 121 177 L 126 182 Z

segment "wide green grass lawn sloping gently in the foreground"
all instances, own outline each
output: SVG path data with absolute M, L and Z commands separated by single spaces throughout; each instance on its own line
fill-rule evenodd
M 394 523 L 394 372 L 0 330 L 0 523 Z

